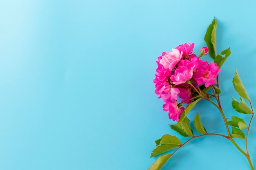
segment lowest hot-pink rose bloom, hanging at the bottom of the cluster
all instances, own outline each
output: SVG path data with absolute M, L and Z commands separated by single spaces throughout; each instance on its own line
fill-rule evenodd
M 166 103 L 163 105 L 163 110 L 168 111 L 169 119 L 179 121 L 180 114 L 184 111 L 184 107 L 177 106 L 177 101 L 173 103 Z

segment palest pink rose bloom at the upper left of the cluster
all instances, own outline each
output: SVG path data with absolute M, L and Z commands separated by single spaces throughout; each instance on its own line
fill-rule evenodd
M 159 61 L 159 63 L 162 64 L 164 68 L 172 70 L 180 61 L 181 56 L 182 53 L 180 53 L 179 50 L 173 49 L 172 52 L 166 52 L 166 54 L 162 56 L 162 59 Z

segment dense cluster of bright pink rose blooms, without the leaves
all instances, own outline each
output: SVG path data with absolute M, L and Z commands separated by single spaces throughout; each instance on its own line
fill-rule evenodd
M 193 53 L 194 43 L 177 46 L 171 52 L 164 52 L 157 59 L 155 93 L 165 102 L 163 110 L 168 111 L 169 119 L 179 121 L 184 111 L 182 104 L 189 104 L 197 96 L 200 86 L 214 85 L 220 72 L 216 63 L 200 60 Z M 201 56 L 208 53 L 202 47 Z M 178 97 L 181 102 L 178 104 Z

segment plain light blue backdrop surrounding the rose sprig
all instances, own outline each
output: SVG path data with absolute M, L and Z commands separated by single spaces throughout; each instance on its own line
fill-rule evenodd
M 238 99 L 231 80 L 236 67 L 256 106 L 255 6 L 253 0 L 2 1 L 0 169 L 149 168 L 155 139 L 180 137 L 154 93 L 155 60 L 185 42 L 199 54 L 214 16 L 217 51 L 232 51 L 220 73 L 221 102 L 227 117 L 248 121 L 231 108 L 231 97 Z M 208 132 L 226 134 L 216 108 L 200 102 L 189 119 L 197 111 Z M 254 166 L 255 140 L 253 121 Z M 249 170 L 249 164 L 231 142 L 209 136 L 181 148 L 163 168 L 169 169 Z

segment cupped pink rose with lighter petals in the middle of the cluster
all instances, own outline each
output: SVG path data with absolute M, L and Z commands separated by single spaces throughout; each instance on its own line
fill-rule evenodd
M 191 79 L 193 75 L 193 67 L 187 68 L 186 66 L 178 66 L 175 70 L 174 75 L 171 76 L 171 81 L 173 84 L 182 84 L 187 80 Z

